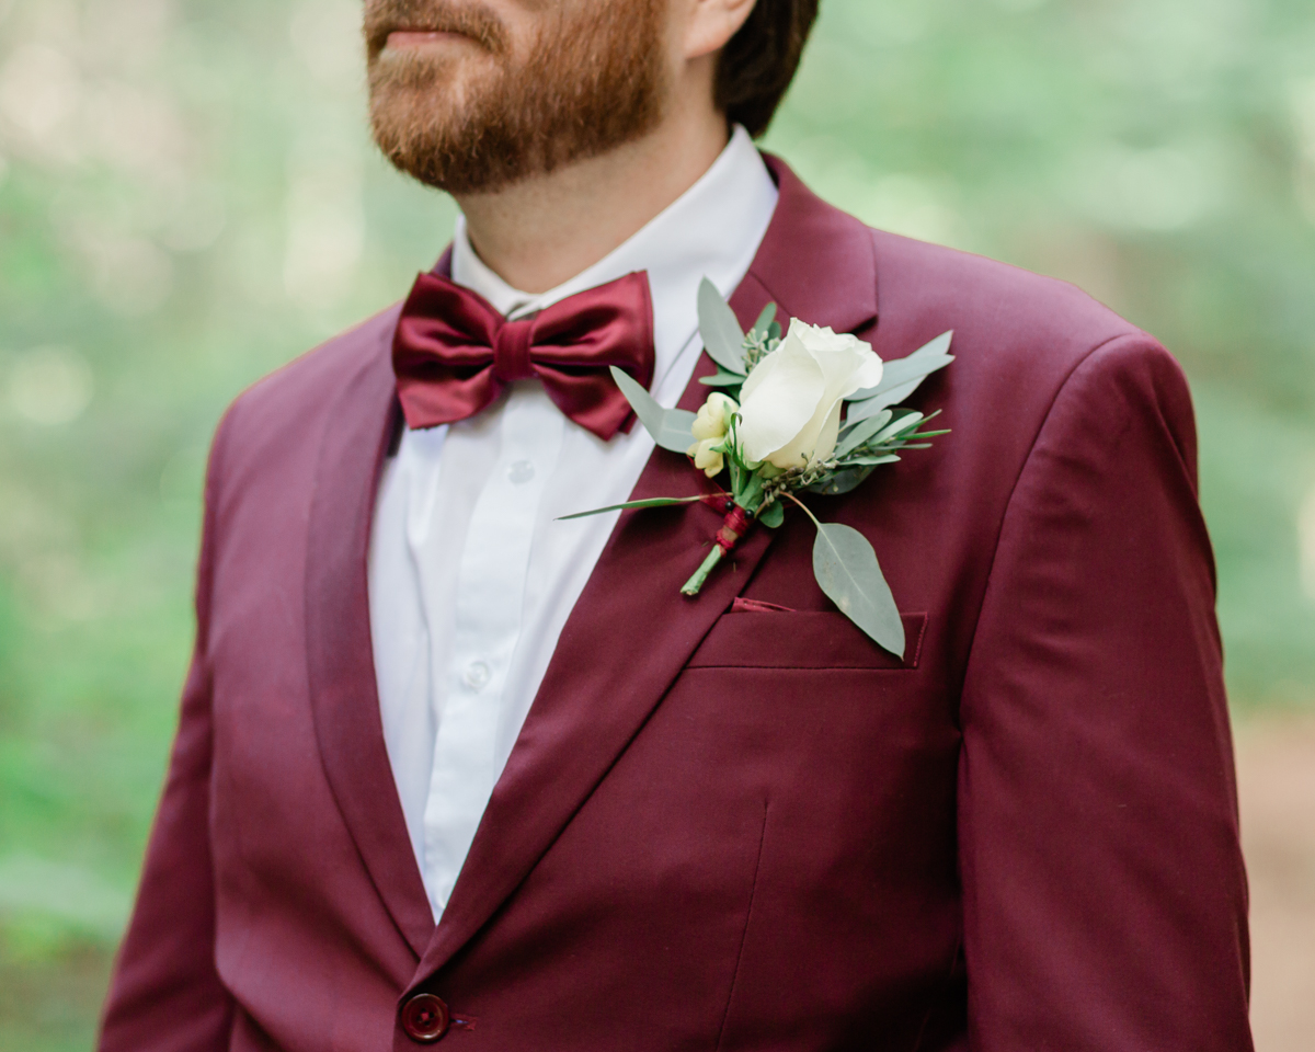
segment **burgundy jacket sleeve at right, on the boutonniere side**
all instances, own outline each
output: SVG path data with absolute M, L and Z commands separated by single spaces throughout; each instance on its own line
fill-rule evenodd
M 1214 604 L 1186 383 L 1118 338 L 1040 427 L 965 672 L 974 1052 L 1252 1048 Z

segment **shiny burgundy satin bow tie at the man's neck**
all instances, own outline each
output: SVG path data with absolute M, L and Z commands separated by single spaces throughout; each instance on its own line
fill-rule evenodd
M 606 442 L 631 418 L 609 366 L 646 388 L 652 383 L 654 310 L 643 272 L 525 321 L 506 321 L 481 296 L 422 274 L 393 338 L 397 396 L 413 430 L 472 417 L 513 380 L 538 377 L 563 413 Z

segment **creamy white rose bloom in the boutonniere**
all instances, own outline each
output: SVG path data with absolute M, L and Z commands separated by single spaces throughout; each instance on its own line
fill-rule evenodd
M 744 459 L 778 468 L 826 460 L 840 433 L 840 404 L 880 383 L 881 359 L 869 345 L 794 318 L 740 392 Z

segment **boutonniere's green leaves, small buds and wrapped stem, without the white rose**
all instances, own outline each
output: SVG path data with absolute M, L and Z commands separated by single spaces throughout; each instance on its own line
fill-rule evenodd
M 750 331 L 744 333 L 715 285 L 704 279 L 698 291 L 700 334 L 718 371 L 700 380 L 715 391 L 698 414 L 663 408 L 642 384 L 618 368 L 611 370 L 617 385 L 659 446 L 696 458 L 696 464 L 709 477 L 725 472 L 730 484 L 725 494 L 727 502 L 722 529 L 681 592 L 698 594 L 709 575 L 753 522 L 777 529 L 785 521 L 786 504 L 797 505 L 817 526 L 813 569 L 818 585 L 881 647 L 903 656 L 903 625 L 872 544 L 851 526 L 821 522 L 798 494 L 849 493 L 881 464 L 899 460 L 903 450 L 927 448 L 930 439 L 948 434 L 944 430 L 923 430 L 939 413 L 923 414 L 899 408 L 897 402 L 953 360 L 948 352 L 953 333 L 938 337 L 907 358 L 884 363 L 880 383 L 849 394 L 844 400 L 846 413 L 839 435 L 825 455 L 778 467 L 748 459 L 739 435 L 743 423 L 739 405 L 742 389 L 750 375 L 781 348 L 782 329 L 776 321 L 776 304 L 768 304 Z M 565 518 L 698 501 L 706 502 L 707 496 L 629 501 Z

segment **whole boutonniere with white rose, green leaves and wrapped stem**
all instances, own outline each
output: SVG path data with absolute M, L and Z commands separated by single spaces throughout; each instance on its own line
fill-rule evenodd
M 800 494 L 848 493 L 881 464 L 898 460 L 902 450 L 927 448 L 928 439 L 948 434 L 923 430 L 939 413 L 924 416 L 897 402 L 953 362 L 948 354 L 953 333 L 886 363 L 857 337 L 798 318 L 782 334 L 776 304 L 743 333 L 707 279 L 698 289 L 698 330 L 718 372 L 700 380 L 717 389 L 697 414 L 663 409 L 629 375 L 618 368 L 611 375 L 659 446 L 688 455 L 709 479 L 725 475 L 729 490 L 630 501 L 567 518 L 698 501 L 719 505 L 726 512 L 722 529 L 681 589 L 697 596 L 755 522 L 776 529 L 786 506 L 797 506 L 817 526 L 818 585 L 846 617 L 902 658 L 899 609 L 872 544 L 851 526 L 821 522 Z

